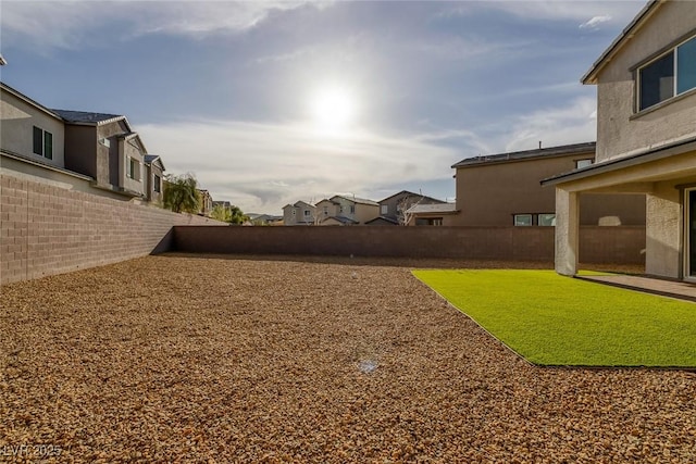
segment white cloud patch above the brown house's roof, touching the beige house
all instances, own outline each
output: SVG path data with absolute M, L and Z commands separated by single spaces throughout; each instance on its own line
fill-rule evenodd
M 597 139 L 597 102 L 581 97 L 562 108 L 536 110 L 512 121 L 506 151 L 531 150 Z

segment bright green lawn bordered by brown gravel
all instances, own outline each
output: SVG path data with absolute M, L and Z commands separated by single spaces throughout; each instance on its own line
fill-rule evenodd
M 696 303 L 554 271 L 414 271 L 535 364 L 696 367 Z

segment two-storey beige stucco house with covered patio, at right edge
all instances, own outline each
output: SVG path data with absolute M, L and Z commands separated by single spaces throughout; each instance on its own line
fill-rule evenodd
M 556 271 L 577 272 L 580 197 L 646 199 L 646 273 L 696 281 L 696 7 L 650 1 L 582 78 L 597 86 L 597 162 L 556 187 Z M 549 189 L 550 190 L 550 189 Z

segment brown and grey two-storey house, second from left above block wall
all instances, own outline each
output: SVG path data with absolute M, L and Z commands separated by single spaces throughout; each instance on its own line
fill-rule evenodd
M 65 122 L 65 167 L 96 180 L 95 187 L 145 197 L 147 149 L 126 116 L 53 110 Z

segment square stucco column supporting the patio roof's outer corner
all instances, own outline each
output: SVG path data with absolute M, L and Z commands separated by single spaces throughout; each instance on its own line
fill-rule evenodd
M 579 193 L 556 188 L 556 272 L 564 276 L 577 273 L 580 254 Z

